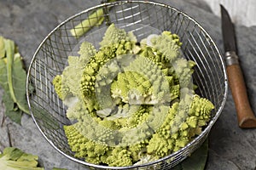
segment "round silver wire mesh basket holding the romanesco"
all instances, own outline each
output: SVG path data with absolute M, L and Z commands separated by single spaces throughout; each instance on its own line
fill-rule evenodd
M 92 11 L 104 9 L 104 23 L 101 26 L 89 26 L 86 34 L 74 37 L 70 30 L 87 19 Z M 102 16 L 96 16 L 102 17 Z M 94 18 L 95 19 L 95 18 Z M 91 19 L 91 20 L 94 20 Z M 55 94 L 52 80 L 61 74 L 67 65 L 67 57 L 73 54 L 78 44 L 86 39 L 95 46 L 101 40 L 102 28 L 114 23 L 142 39 L 155 31 L 172 31 L 183 42 L 182 51 L 187 59 L 196 63 L 193 81 L 198 86 L 197 92 L 212 101 L 215 109 L 212 119 L 193 141 L 182 150 L 172 153 L 157 161 L 131 167 L 107 167 L 94 165 L 74 156 L 67 144 L 63 130 L 64 125 L 71 122 L 66 116 L 67 107 Z M 83 28 L 83 26 L 81 26 Z M 150 28 L 150 29 L 148 29 Z M 99 36 L 100 35 L 100 36 Z M 92 169 L 170 169 L 183 161 L 196 150 L 207 138 L 212 125 L 224 108 L 227 96 L 227 77 L 224 60 L 218 48 L 200 24 L 187 14 L 161 3 L 143 1 L 119 1 L 103 3 L 86 9 L 62 22 L 45 37 L 32 58 L 27 77 L 27 100 L 34 122 L 39 130 L 56 150 L 73 161 L 84 164 Z

